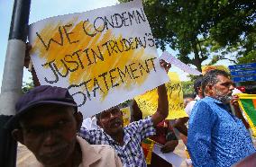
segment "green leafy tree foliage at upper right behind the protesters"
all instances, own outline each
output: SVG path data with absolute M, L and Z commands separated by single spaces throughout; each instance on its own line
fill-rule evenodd
M 233 63 L 255 62 L 255 1 L 143 0 L 143 6 L 157 47 L 178 50 L 199 71 L 207 58 L 213 65 L 227 54 Z

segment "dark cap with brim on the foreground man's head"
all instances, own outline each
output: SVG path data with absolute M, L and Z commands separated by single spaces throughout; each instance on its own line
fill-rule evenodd
M 78 109 L 78 105 L 69 94 L 68 89 L 41 85 L 26 92 L 17 101 L 15 105 L 16 114 L 6 123 L 6 127 L 10 130 L 14 129 L 18 126 L 18 122 L 24 114 L 32 112 L 32 109 L 45 104 L 59 104 L 74 107 L 76 110 Z

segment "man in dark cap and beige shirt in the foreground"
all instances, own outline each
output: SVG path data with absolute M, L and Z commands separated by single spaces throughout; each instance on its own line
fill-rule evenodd
M 109 145 L 89 145 L 77 136 L 82 114 L 68 89 L 38 86 L 16 103 L 16 115 L 6 127 L 32 151 L 33 167 L 121 167 Z

